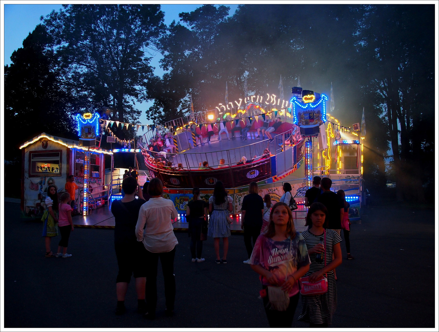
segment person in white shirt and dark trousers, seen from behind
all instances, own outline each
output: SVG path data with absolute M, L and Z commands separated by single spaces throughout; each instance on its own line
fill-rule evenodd
M 171 200 L 162 197 L 163 184 L 158 178 L 149 182 L 149 201 L 140 207 L 139 219 L 136 225 L 137 241 L 142 241 L 146 248 L 146 262 L 139 262 L 148 266 L 146 276 L 146 302 L 148 312 L 145 318 L 155 318 L 157 306 L 157 265 L 158 258 L 162 264 L 163 279 L 165 281 L 166 316 L 174 313 L 175 276 L 174 257 L 175 246 L 178 244 L 175 237 L 172 221 L 177 217 L 177 210 Z

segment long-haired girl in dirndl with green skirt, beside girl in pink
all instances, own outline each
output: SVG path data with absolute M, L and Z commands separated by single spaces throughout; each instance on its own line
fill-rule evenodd
M 58 190 L 55 186 L 47 188 L 47 197 L 44 204 L 46 204 L 46 208 L 41 221 L 44 222 L 42 236 L 45 238 L 46 243 L 45 257 L 55 257 L 55 254 L 50 249 L 52 237 L 58 235 Z

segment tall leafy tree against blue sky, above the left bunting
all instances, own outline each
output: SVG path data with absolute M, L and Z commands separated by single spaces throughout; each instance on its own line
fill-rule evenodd
M 113 119 L 135 121 L 154 75 L 148 50 L 164 32 L 160 5 L 63 5 L 42 18 L 54 36 L 64 84 L 96 106 L 112 106 Z

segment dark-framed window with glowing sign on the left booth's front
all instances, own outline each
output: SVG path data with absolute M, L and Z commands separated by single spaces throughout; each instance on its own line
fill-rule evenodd
M 30 151 L 29 176 L 61 176 L 62 150 Z

